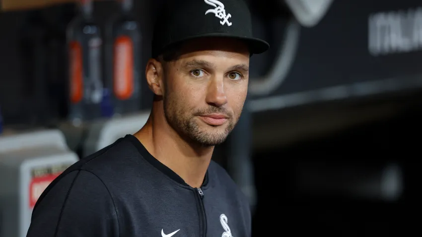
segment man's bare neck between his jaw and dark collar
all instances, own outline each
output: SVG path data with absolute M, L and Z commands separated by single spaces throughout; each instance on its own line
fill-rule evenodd
M 135 134 L 148 152 L 192 187 L 200 187 L 211 162 L 214 147 L 196 147 L 182 139 L 164 116 L 151 113 Z

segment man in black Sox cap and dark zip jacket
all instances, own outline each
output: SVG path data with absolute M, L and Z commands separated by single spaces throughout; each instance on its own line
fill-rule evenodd
M 71 166 L 44 191 L 28 237 L 250 237 L 247 199 L 211 161 L 238 121 L 251 37 L 243 0 L 169 1 L 146 79 L 146 124 Z

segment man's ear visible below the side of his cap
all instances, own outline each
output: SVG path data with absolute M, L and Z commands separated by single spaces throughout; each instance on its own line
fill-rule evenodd
M 156 59 L 149 59 L 146 64 L 145 77 L 149 89 L 158 96 L 164 94 L 164 70 L 161 62 Z

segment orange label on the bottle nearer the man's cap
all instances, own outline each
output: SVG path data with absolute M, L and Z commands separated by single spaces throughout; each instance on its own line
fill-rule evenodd
M 120 100 L 129 99 L 134 91 L 133 42 L 128 36 L 120 36 L 114 42 L 113 90 Z

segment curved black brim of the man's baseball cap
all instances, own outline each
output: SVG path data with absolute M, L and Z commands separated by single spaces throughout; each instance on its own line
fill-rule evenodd
M 252 54 L 255 54 L 255 55 L 262 54 L 262 53 L 264 53 L 264 52 L 266 52 L 267 50 L 270 49 L 270 44 L 268 44 L 264 40 L 261 40 L 261 39 L 258 39 L 258 38 L 241 37 L 241 36 L 238 36 L 238 35 L 227 34 L 227 33 L 208 33 L 208 34 L 190 36 L 190 37 L 180 39 L 177 42 L 173 42 L 171 45 L 176 44 L 176 43 L 181 43 L 181 42 L 184 42 L 184 41 L 187 41 L 187 40 L 198 39 L 198 38 L 207 38 L 207 37 L 223 37 L 223 38 L 232 38 L 232 39 L 242 40 L 242 41 L 244 41 L 248 44 L 251 55 Z M 168 45 L 168 46 L 170 46 L 170 45 Z M 168 46 L 166 46 L 165 48 L 167 48 Z

